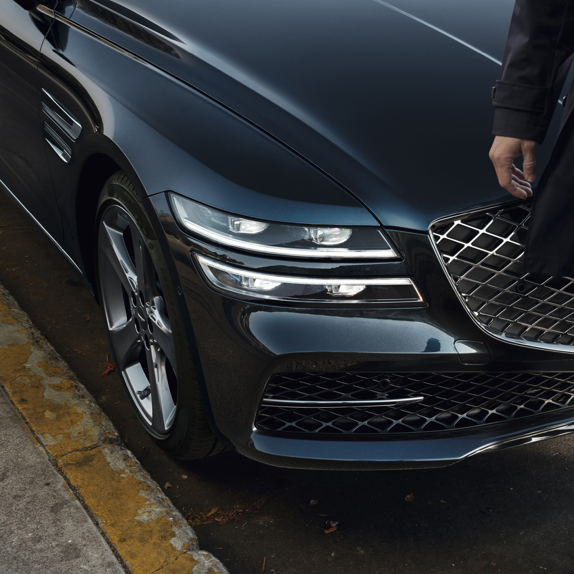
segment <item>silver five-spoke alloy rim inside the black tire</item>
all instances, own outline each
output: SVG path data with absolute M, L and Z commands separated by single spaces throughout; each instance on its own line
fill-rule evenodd
M 161 436 L 175 419 L 177 366 L 169 315 L 147 244 L 125 209 L 107 208 L 98 234 L 104 316 L 132 402 L 149 430 Z

